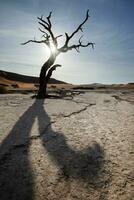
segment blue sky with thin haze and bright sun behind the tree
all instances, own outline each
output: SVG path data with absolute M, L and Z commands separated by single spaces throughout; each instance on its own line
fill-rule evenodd
M 92 48 L 59 55 L 61 68 L 53 77 L 73 84 L 134 82 L 134 0 L 0 0 L 0 70 L 39 76 L 49 52 L 44 44 L 21 45 L 41 39 L 37 17 L 52 11 L 53 31 L 71 34 L 90 18 L 72 43 L 83 35 Z

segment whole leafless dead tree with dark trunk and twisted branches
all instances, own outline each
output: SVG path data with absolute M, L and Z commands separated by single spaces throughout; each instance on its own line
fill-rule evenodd
M 83 32 L 83 25 L 86 23 L 86 21 L 89 18 L 89 10 L 86 12 L 86 17 L 83 20 L 83 22 L 72 32 L 72 34 L 65 33 L 65 42 L 63 46 L 59 47 L 58 45 L 58 38 L 62 37 L 63 35 L 55 36 L 53 30 L 52 30 L 52 22 L 51 22 L 51 16 L 52 12 L 50 12 L 49 16 L 46 17 L 46 20 L 43 19 L 43 15 L 41 17 L 37 17 L 39 20 L 38 23 L 41 26 L 39 28 L 39 31 L 42 33 L 41 40 L 36 40 L 35 38 L 33 40 L 28 40 L 27 42 L 22 43 L 22 45 L 28 44 L 30 42 L 34 43 L 43 43 L 50 49 L 50 56 L 49 59 L 43 64 L 41 71 L 40 71 L 40 77 L 39 77 L 39 90 L 37 98 L 44 99 L 46 97 L 46 88 L 47 83 L 53 73 L 54 70 L 56 70 L 57 67 L 60 67 L 61 65 L 56 64 L 54 65 L 57 56 L 60 53 L 66 53 L 67 51 L 75 49 L 77 52 L 79 52 L 79 49 L 81 47 L 88 47 L 91 46 L 94 48 L 93 42 L 88 42 L 86 44 L 82 43 L 82 37 L 81 36 L 77 42 L 77 44 L 69 45 L 71 39 L 79 32 Z

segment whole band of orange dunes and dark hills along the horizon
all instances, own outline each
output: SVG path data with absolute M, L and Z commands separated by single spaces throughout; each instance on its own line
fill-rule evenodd
M 34 76 L 26 76 L 22 74 L 17 74 L 13 72 L 7 72 L 0 70 L 0 85 L 7 86 L 9 89 L 20 88 L 20 89 L 37 89 L 39 83 L 39 78 Z M 53 86 L 53 84 L 57 84 Z M 95 89 L 134 89 L 134 83 L 127 84 L 82 84 L 82 85 L 72 85 L 65 83 L 60 80 L 51 78 L 48 87 L 58 87 L 58 88 L 72 88 L 79 90 L 95 90 Z

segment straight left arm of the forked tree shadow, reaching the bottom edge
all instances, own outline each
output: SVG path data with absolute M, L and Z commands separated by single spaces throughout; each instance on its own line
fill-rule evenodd
M 32 105 L 0 146 L 0 199 L 32 200 L 33 175 L 28 159 L 29 137 L 36 117 Z

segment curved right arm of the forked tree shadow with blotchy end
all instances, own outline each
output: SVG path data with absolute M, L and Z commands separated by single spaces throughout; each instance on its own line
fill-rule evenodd
M 67 143 L 63 133 L 52 130 L 51 125 L 44 127 L 43 118 L 50 124 L 50 118 L 42 104 L 38 106 L 39 133 L 42 138 L 44 149 L 47 150 L 52 161 L 58 166 L 65 179 L 78 179 L 87 182 L 95 188 L 103 186 L 99 181 L 101 172 L 104 169 L 104 149 L 97 142 L 83 150 L 75 150 Z M 44 117 L 43 117 L 44 115 Z

